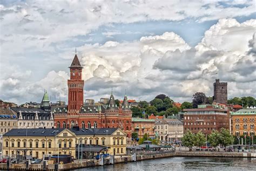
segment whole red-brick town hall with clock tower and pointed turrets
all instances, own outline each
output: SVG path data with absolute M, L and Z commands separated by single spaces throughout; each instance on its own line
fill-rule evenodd
M 131 137 L 132 111 L 125 95 L 122 105 L 117 107 L 111 92 L 107 105 L 84 105 L 84 80 L 77 55 L 70 65 L 70 79 L 68 80 L 68 106 L 52 108 L 55 127 L 71 128 L 121 128 Z

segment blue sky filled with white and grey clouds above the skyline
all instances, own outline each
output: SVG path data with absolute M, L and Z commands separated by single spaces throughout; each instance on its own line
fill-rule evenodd
M 75 49 L 84 99 L 256 97 L 255 1 L 0 0 L 0 99 L 67 101 Z

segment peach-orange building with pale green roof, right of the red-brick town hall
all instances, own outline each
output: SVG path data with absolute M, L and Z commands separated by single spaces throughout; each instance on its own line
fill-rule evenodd
M 154 129 L 153 119 L 132 118 L 132 132 L 138 133 L 138 138 L 143 138 L 144 134 L 154 138 Z

